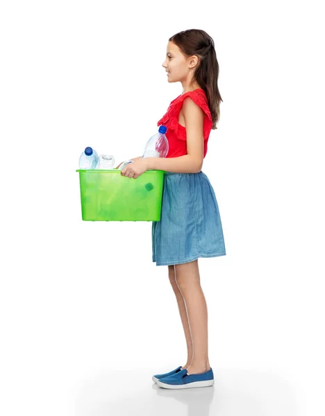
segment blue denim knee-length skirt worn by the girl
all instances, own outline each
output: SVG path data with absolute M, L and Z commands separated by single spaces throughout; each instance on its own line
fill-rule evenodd
M 205 173 L 166 172 L 160 221 L 152 223 L 156 266 L 226 255 L 215 191 Z

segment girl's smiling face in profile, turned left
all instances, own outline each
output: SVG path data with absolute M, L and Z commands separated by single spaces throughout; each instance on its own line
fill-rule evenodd
M 166 59 L 162 65 L 167 71 L 169 83 L 185 81 L 191 68 L 190 60 L 185 58 L 181 50 L 173 42 L 168 42 L 167 44 Z

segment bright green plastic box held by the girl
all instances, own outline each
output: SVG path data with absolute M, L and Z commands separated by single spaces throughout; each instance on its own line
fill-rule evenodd
M 78 169 L 84 221 L 159 221 L 165 171 L 136 179 L 118 169 Z

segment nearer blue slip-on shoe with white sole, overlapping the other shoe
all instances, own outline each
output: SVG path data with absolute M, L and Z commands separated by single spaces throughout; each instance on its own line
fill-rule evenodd
M 172 389 L 209 387 L 214 383 L 215 379 L 213 377 L 212 368 L 199 374 L 188 374 L 188 370 L 183 368 L 180 372 L 157 381 L 157 385 L 159 385 L 159 387 Z

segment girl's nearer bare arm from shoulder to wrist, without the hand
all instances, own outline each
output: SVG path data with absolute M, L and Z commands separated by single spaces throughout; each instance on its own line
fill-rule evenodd
M 183 102 L 188 154 L 179 157 L 147 157 L 148 169 L 176 173 L 198 173 L 203 165 L 204 112 L 186 97 Z

